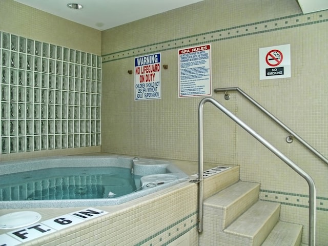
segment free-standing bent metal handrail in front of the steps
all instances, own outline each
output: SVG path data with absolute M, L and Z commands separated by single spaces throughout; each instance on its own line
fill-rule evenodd
M 240 127 L 245 131 L 250 133 L 254 138 L 256 138 L 262 145 L 267 147 L 272 153 L 278 156 L 282 161 L 284 161 L 288 166 L 290 166 L 296 173 L 303 177 L 309 185 L 309 246 L 315 246 L 315 224 L 316 224 L 316 188 L 315 183 L 311 176 L 298 167 L 291 159 L 282 154 L 278 149 L 255 132 L 251 127 L 245 124 L 241 119 L 234 115 L 227 108 L 222 106 L 218 101 L 211 97 L 203 98 L 198 107 L 198 232 L 202 232 L 202 222 L 203 222 L 203 106 L 205 103 L 210 102 L 224 114 L 235 121 Z

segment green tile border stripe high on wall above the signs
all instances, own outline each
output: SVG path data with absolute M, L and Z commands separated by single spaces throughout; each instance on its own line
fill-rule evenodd
M 200 34 L 190 35 L 190 36 L 186 36 L 186 37 L 180 37 L 180 38 L 176 38 L 176 39 L 170 39 L 170 40 L 166 40 L 166 41 L 163 41 L 163 42 L 158 42 L 158 43 L 154 43 L 154 44 L 151 44 L 151 45 L 140 46 L 140 47 L 136 47 L 136 48 L 132 48 L 132 49 L 117 51 L 117 52 L 101 55 L 102 63 L 108 63 L 110 61 L 136 57 L 138 55 L 151 54 L 151 53 L 154 53 L 154 52 L 167 51 L 167 50 L 172 50 L 172 49 L 180 49 L 180 48 L 184 48 L 184 47 L 190 47 L 192 45 L 194 46 L 194 45 L 201 45 L 201 44 L 207 44 L 207 43 L 212 43 L 212 42 L 219 42 L 219 41 L 222 41 L 222 40 L 227 40 L 227 39 L 232 39 L 232 38 L 238 38 L 238 37 L 249 36 L 249 35 L 256 35 L 256 34 L 267 33 L 267 32 L 274 32 L 274 31 L 278 31 L 278 30 L 291 29 L 291 28 L 297 28 L 297 27 L 302 27 L 302 26 L 308 26 L 308 25 L 314 25 L 314 24 L 328 22 L 328 18 L 323 18 L 323 15 L 319 14 L 319 13 L 328 13 L 328 11 L 323 10 L 323 11 L 317 11 L 317 12 L 309 13 L 309 14 L 294 14 L 294 15 L 289 15 L 289 16 L 284 16 L 284 17 L 279 17 L 279 18 L 263 20 L 261 22 L 255 22 L 255 23 L 250 23 L 250 24 L 245 24 L 245 25 L 239 25 L 239 26 L 234 26 L 234 27 L 231 27 L 231 28 L 224 28 L 224 29 L 214 30 L 214 31 L 210 31 L 210 32 L 204 32 L 204 33 L 200 33 Z M 319 14 L 319 15 L 314 16 L 315 14 Z M 307 22 L 298 23 L 299 19 L 291 19 L 291 18 L 295 18 L 295 17 L 299 17 L 299 16 L 304 18 L 304 19 L 305 19 L 306 16 L 308 16 L 306 18 Z M 314 19 L 315 17 L 323 18 L 323 19 L 309 21 L 311 19 Z M 245 29 L 244 32 L 246 32 L 246 33 L 231 34 L 230 32 L 228 32 L 228 33 L 223 33 L 225 35 L 224 37 L 219 37 L 219 38 L 214 38 L 214 36 L 211 36 L 210 38 L 205 37 L 205 35 L 209 35 L 209 34 L 215 34 L 215 33 L 220 33 L 220 32 L 227 32 L 227 31 L 234 31 L 234 30 L 237 30 L 237 29 L 240 29 L 240 28 L 247 28 L 247 27 L 250 28 L 250 27 L 254 27 L 256 25 L 262 25 L 262 24 L 270 24 L 270 23 L 272 24 L 273 22 L 281 21 L 281 20 L 284 20 L 284 19 L 291 19 L 290 23 L 288 21 L 286 21 L 284 23 L 284 24 L 288 24 L 287 26 L 265 29 L 265 28 L 268 27 L 267 25 L 265 25 L 264 26 L 265 30 L 256 31 L 257 27 L 255 27 L 255 29 L 253 31 Z M 291 25 L 292 22 L 298 23 L 298 24 Z M 276 25 L 277 24 L 275 24 L 275 26 Z M 236 33 L 239 33 L 239 30 L 237 30 Z M 220 36 L 221 36 L 221 34 L 220 34 Z M 171 44 L 170 44 L 172 42 L 177 42 L 177 41 L 185 40 L 185 39 L 188 39 L 188 38 L 195 38 L 195 37 L 198 37 L 198 38 L 196 38 L 196 40 L 194 40 L 194 42 L 191 42 L 191 40 L 188 40 L 188 42 L 183 42 L 182 41 L 180 45 L 175 43 L 173 46 L 171 46 Z M 198 40 L 201 37 L 203 38 L 203 40 L 202 41 Z M 184 43 L 186 43 L 186 44 L 184 44 Z M 157 46 L 163 45 L 163 44 L 166 44 L 167 47 L 163 47 L 163 46 L 161 48 L 157 47 Z M 148 49 L 146 49 L 146 48 L 148 48 Z M 141 49 L 143 49 L 143 50 L 141 50 Z M 132 52 L 132 53 L 130 53 L 130 52 Z M 109 57 L 109 56 L 113 56 L 113 57 Z M 107 60 L 107 57 L 108 57 L 108 60 Z

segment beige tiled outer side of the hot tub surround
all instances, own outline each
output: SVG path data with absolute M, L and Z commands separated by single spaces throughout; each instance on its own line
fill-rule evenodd
M 191 231 L 197 241 L 197 186 L 185 182 L 154 197 L 142 197 L 111 213 L 111 207 L 97 207 L 109 213 L 49 236 L 20 245 L 166 245 L 181 233 Z M 150 198 L 151 197 L 151 198 Z M 167 202 L 162 202 L 166 199 Z M 124 205 L 124 204 L 122 204 Z M 172 208 L 174 207 L 174 211 Z M 141 243 L 141 244 L 140 244 Z

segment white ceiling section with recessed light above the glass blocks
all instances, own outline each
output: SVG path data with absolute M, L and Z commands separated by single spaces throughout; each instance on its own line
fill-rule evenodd
M 14 0 L 100 31 L 203 0 Z M 83 6 L 81 10 L 67 7 Z

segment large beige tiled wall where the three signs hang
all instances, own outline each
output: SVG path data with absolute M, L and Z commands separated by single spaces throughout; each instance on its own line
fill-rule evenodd
M 182 160 L 198 158 L 198 98 L 178 98 L 181 47 L 212 44 L 213 88 L 240 87 L 328 156 L 325 67 L 328 11 L 303 15 L 295 0 L 205 0 L 103 32 L 102 151 Z M 292 77 L 259 80 L 259 48 L 291 45 Z M 161 52 L 161 99 L 134 101 L 134 57 Z M 231 93 L 224 106 L 290 156 L 317 187 L 317 245 L 328 241 L 328 167 Z M 211 105 L 204 106 L 204 159 L 240 166 L 240 179 L 261 183 L 282 219 L 308 223 L 308 186 L 295 172 Z M 297 218 L 295 214 L 297 213 Z M 307 239 L 303 233 L 303 242 Z

